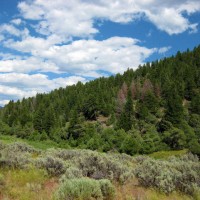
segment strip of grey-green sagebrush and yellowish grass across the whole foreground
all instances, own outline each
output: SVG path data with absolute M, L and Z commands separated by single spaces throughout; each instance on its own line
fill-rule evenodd
M 155 160 L 42 149 L 24 142 L 0 142 L 1 199 L 200 199 L 200 162 L 186 151 Z

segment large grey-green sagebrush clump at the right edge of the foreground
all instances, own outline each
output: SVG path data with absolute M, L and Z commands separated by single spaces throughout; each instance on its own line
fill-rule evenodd
M 193 195 L 200 188 L 200 163 L 192 154 L 167 161 L 146 159 L 138 165 L 135 175 L 141 185 L 164 193 L 179 190 Z

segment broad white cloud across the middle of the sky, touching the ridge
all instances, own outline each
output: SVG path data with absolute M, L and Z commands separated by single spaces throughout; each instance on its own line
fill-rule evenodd
M 103 41 L 77 40 L 62 46 L 52 45 L 49 40 L 41 38 L 27 38 L 21 42 L 11 41 L 7 45 L 31 53 L 32 57 L 0 61 L 1 72 L 39 70 L 85 76 L 94 75 L 97 70 L 122 73 L 128 67 L 136 68 L 157 51 L 156 48 L 141 47 L 138 40 L 127 37 L 112 37 Z

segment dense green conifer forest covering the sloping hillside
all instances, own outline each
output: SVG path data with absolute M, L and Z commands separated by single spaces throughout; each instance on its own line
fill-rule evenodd
M 200 46 L 136 71 L 10 101 L 2 134 L 128 154 L 200 154 Z

